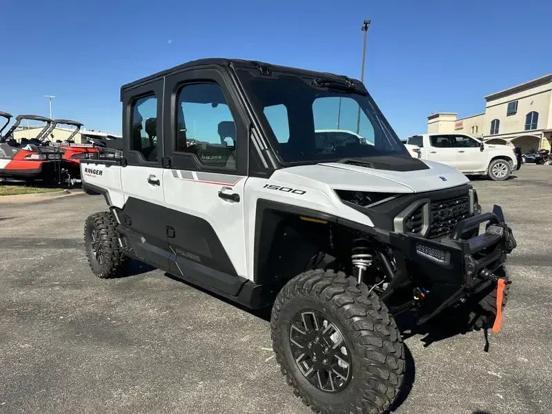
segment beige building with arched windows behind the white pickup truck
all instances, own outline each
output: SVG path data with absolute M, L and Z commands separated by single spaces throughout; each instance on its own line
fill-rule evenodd
M 428 133 L 463 133 L 522 151 L 551 149 L 552 74 L 485 97 L 485 112 L 457 118 L 455 112 L 428 116 Z

